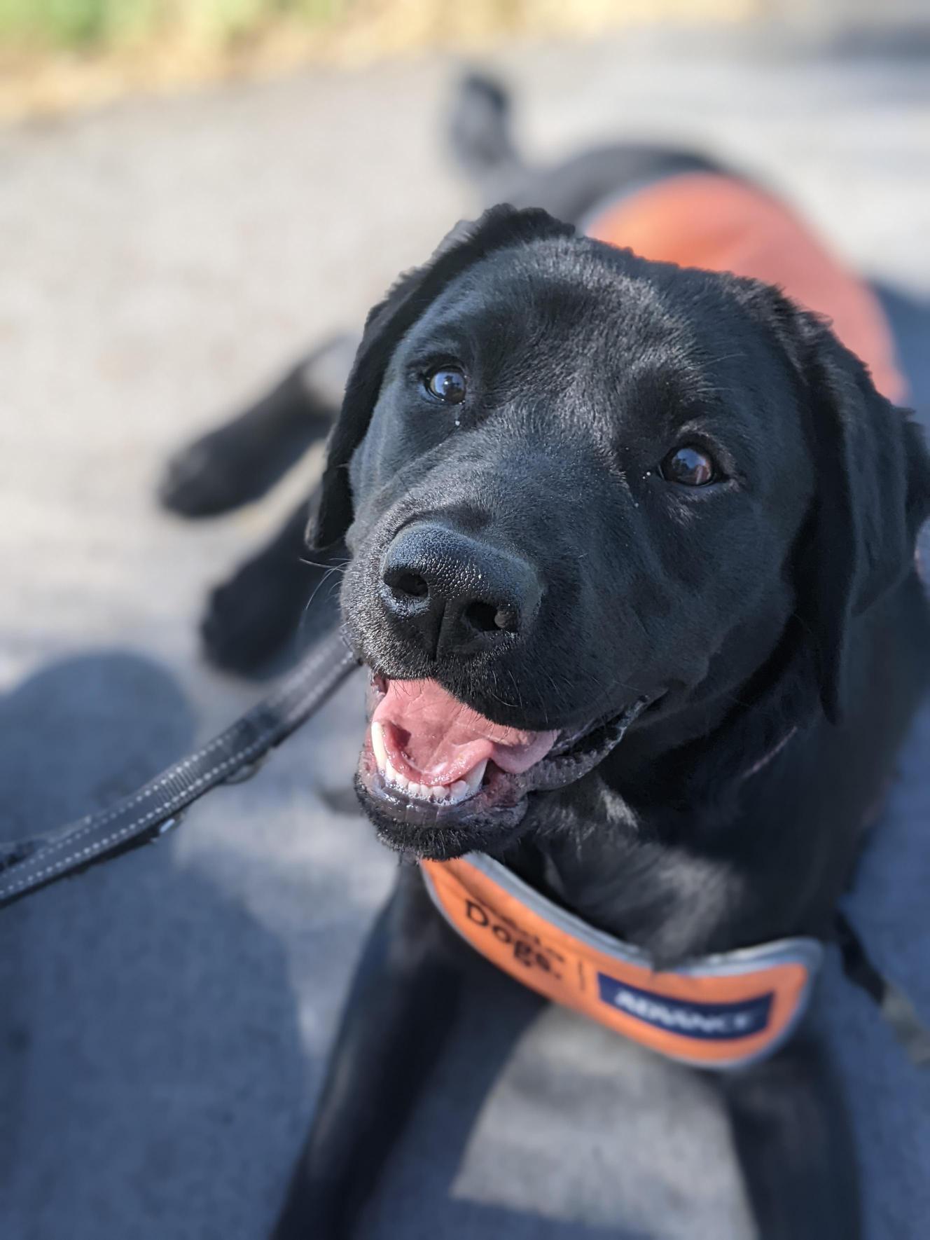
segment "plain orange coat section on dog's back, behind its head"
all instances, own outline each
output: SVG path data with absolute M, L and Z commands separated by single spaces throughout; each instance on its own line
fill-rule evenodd
M 681 172 L 596 210 L 584 231 L 644 258 L 776 284 L 827 315 L 889 401 L 906 399 L 878 298 L 784 202 L 735 177 Z

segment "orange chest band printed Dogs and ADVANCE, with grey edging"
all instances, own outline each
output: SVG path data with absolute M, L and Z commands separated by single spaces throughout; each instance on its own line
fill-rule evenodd
M 698 1068 L 738 1068 L 776 1050 L 802 1017 L 823 956 L 816 939 L 781 939 L 657 972 L 637 947 L 594 930 L 484 853 L 420 869 L 449 924 L 505 973 Z

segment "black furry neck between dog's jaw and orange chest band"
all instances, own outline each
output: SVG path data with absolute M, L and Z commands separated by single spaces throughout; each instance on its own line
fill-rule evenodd
M 789 625 L 754 676 L 631 729 L 552 794 L 505 861 L 658 963 L 771 937 L 779 910 L 763 900 L 756 915 L 768 884 L 734 864 L 730 832 L 790 760 L 792 730 L 820 717 L 812 656 Z

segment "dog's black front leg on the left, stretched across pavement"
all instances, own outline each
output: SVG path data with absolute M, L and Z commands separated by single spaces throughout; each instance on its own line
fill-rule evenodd
M 463 944 L 413 866 L 362 954 L 274 1240 L 351 1234 L 449 1032 Z

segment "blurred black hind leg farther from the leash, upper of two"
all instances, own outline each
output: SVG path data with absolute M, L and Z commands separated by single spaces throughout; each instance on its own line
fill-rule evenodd
M 208 517 L 260 498 L 329 433 L 356 345 L 337 336 L 314 350 L 244 413 L 177 453 L 159 487 L 164 506 Z

